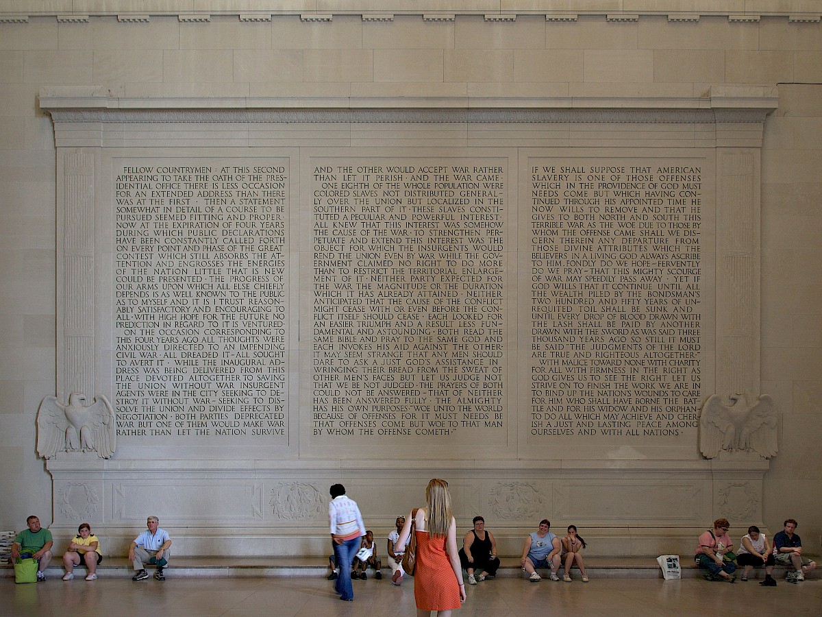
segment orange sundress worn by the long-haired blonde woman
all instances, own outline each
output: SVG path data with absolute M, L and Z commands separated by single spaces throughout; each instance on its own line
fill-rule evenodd
M 455 610 L 459 601 L 459 582 L 446 552 L 447 536 L 417 536 L 417 567 L 414 569 L 413 597 L 419 610 Z

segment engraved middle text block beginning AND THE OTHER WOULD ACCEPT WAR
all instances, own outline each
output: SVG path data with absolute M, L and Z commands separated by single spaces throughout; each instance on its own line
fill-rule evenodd
M 506 440 L 506 160 L 312 160 L 312 439 Z

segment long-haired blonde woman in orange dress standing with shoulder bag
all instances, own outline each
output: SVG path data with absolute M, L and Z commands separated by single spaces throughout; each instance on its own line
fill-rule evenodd
M 457 553 L 457 523 L 451 514 L 451 496 L 446 480 L 434 478 L 425 488 L 426 507 L 413 510 L 405 518 L 396 545 L 404 546 L 416 527 L 417 565 L 414 568 L 413 596 L 418 617 L 436 610 L 439 617 L 450 617 L 465 601 L 465 583 Z

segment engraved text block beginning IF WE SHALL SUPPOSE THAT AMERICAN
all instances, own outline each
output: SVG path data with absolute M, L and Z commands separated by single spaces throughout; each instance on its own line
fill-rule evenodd
M 529 160 L 529 443 L 694 439 L 700 162 Z

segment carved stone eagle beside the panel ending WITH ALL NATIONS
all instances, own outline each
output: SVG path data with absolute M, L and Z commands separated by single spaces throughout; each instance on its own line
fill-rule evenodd
M 748 403 L 744 394 L 728 397 L 731 405 L 725 405 L 722 397 L 713 394 L 705 401 L 700 415 L 700 451 L 705 458 L 717 457 L 719 452 L 756 452 L 771 458 L 778 452 L 777 417 L 774 400 L 767 394 Z

